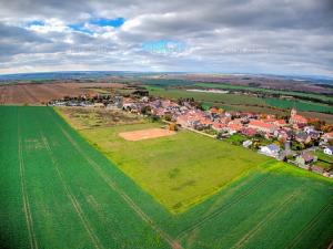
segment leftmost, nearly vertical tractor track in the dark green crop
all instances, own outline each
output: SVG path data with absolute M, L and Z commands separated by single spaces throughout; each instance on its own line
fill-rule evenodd
M 20 183 L 21 183 L 21 191 L 22 191 L 23 211 L 24 211 L 27 229 L 28 229 L 28 234 L 29 234 L 30 248 L 38 249 L 38 242 L 37 242 L 36 234 L 34 234 L 34 229 L 33 229 L 33 220 L 32 220 L 32 216 L 31 216 L 29 196 L 28 196 L 27 184 L 26 184 L 26 169 L 24 169 L 24 160 L 23 160 L 23 152 L 22 152 L 19 113 L 18 113 L 18 138 L 19 138 L 19 144 L 18 144 L 19 169 L 20 169 Z

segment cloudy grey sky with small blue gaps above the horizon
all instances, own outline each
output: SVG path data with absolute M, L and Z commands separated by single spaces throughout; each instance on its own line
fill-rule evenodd
M 333 76 L 332 0 L 0 0 L 0 73 Z

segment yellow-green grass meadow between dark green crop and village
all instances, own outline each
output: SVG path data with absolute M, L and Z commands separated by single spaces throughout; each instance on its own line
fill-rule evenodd
M 119 133 L 159 127 L 134 124 L 80 133 L 172 212 L 201 203 L 268 157 L 189 131 L 139 142 Z

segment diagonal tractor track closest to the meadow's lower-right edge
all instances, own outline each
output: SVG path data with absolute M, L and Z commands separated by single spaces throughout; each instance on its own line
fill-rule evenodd
M 248 188 L 246 190 L 242 191 L 241 194 L 239 194 L 238 197 L 233 201 L 230 201 L 229 204 L 222 206 L 221 208 L 218 208 L 215 211 L 211 212 L 210 215 L 203 217 L 201 220 L 196 221 L 192 226 L 190 226 L 186 229 L 182 230 L 178 235 L 176 238 L 179 240 L 181 240 L 183 237 L 188 236 L 189 232 L 192 232 L 192 231 L 196 230 L 198 228 L 200 228 L 201 226 L 203 226 L 206 221 L 215 218 L 216 216 L 219 216 L 223 211 L 230 209 L 231 207 L 233 207 L 234 205 L 236 205 L 238 203 L 240 203 L 244 197 L 251 195 L 259 186 L 261 186 L 262 184 L 264 184 L 268 180 L 269 176 L 270 176 L 270 173 L 266 173 L 266 175 L 265 175 L 265 177 L 263 179 L 261 179 L 259 183 L 256 183 L 252 187 Z

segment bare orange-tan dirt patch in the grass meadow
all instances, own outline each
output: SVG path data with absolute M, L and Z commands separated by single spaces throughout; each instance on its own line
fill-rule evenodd
M 162 136 L 174 135 L 175 132 L 164 128 L 149 128 L 134 132 L 119 133 L 119 136 L 127 141 L 143 141 Z

